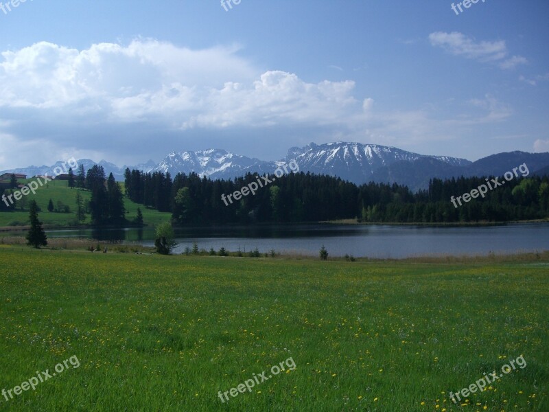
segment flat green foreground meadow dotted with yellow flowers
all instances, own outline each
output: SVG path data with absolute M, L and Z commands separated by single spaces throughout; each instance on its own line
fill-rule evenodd
M 2 411 L 549 411 L 549 264 L 320 262 L 0 245 Z M 526 360 L 456 406 L 459 391 Z M 296 369 L 222 404 L 293 358 Z M 421 404 L 424 402 L 424 404 Z M 437 408 L 436 405 L 439 405 Z

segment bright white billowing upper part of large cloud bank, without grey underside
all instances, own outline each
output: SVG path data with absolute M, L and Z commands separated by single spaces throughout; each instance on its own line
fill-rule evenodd
M 181 128 L 337 124 L 349 106 L 360 111 L 352 81 L 311 84 L 294 73 L 261 73 L 237 52 L 152 40 L 82 51 L 36 43 L 2 53 L 0 106 L 96 112 L 111 122 L 164 118 Z

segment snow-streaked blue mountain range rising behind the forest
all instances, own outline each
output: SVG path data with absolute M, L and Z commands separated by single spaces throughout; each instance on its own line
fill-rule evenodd
M 478 161 L 458 159 L 446 156 L 419 155 L 399 148 L 377 144 L 336 142 L 327 144 L 311 143 L 303 148 L 293 147 L 284 159 L 263 161 L 242 155 L 235 155 L 222 149 L 199 150 L 197 152 L 171 152 L 160 163 L 150 160 L 135 166 L 119 168 L 113 163 L 100 161 L 106 174 L 113 173 L 117 181 L 124 181 L 126 168 L 143 172 L 170 172 L 175 176 L 182 172 L 195 172 L 210 179 L 235 179 L 247 172 L 272 174 L 280 165 L 296 161 L 301 172 L 338 176 L 358 185 L 374 181 L 377 183 L 398 183 L 407 185 L 411 190 L 421 190 L 428 186 L 432 178 L 451 179 L 458 176 L 500 176 L 526 163 L 530 174 L 547 174 L 549 171 L 549 152 L 504 152 L 484 157 Z M 89 159 L 80 159 L 88 170 L 96 163 Z M 58 161 L 51 166 L 29 166 L 3 173 L 21 173 L 27 176 L 37 174 L 54 175 L 54 168 L 61 165 Z

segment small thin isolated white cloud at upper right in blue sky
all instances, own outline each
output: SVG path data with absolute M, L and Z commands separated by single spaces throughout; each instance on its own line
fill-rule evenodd
M 480 62 L 495 62 L 502 69 L 513 69 L 517 65 L 524 65 L 528 62 L 522 56 L 508 58 L 509 52 L 505 41 L 478 42 L 460 32 L 434 32 L 429 35 L 429 41 L 433 47 L 441 47 L 454 56 Z

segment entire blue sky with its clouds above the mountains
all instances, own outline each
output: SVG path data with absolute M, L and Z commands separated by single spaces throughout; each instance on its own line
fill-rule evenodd
M 451 5 L 4 6 L 0 170 L 206 148 L 274 160 L 311 141 L 470 160 L 549 151 L 549 3 Z

